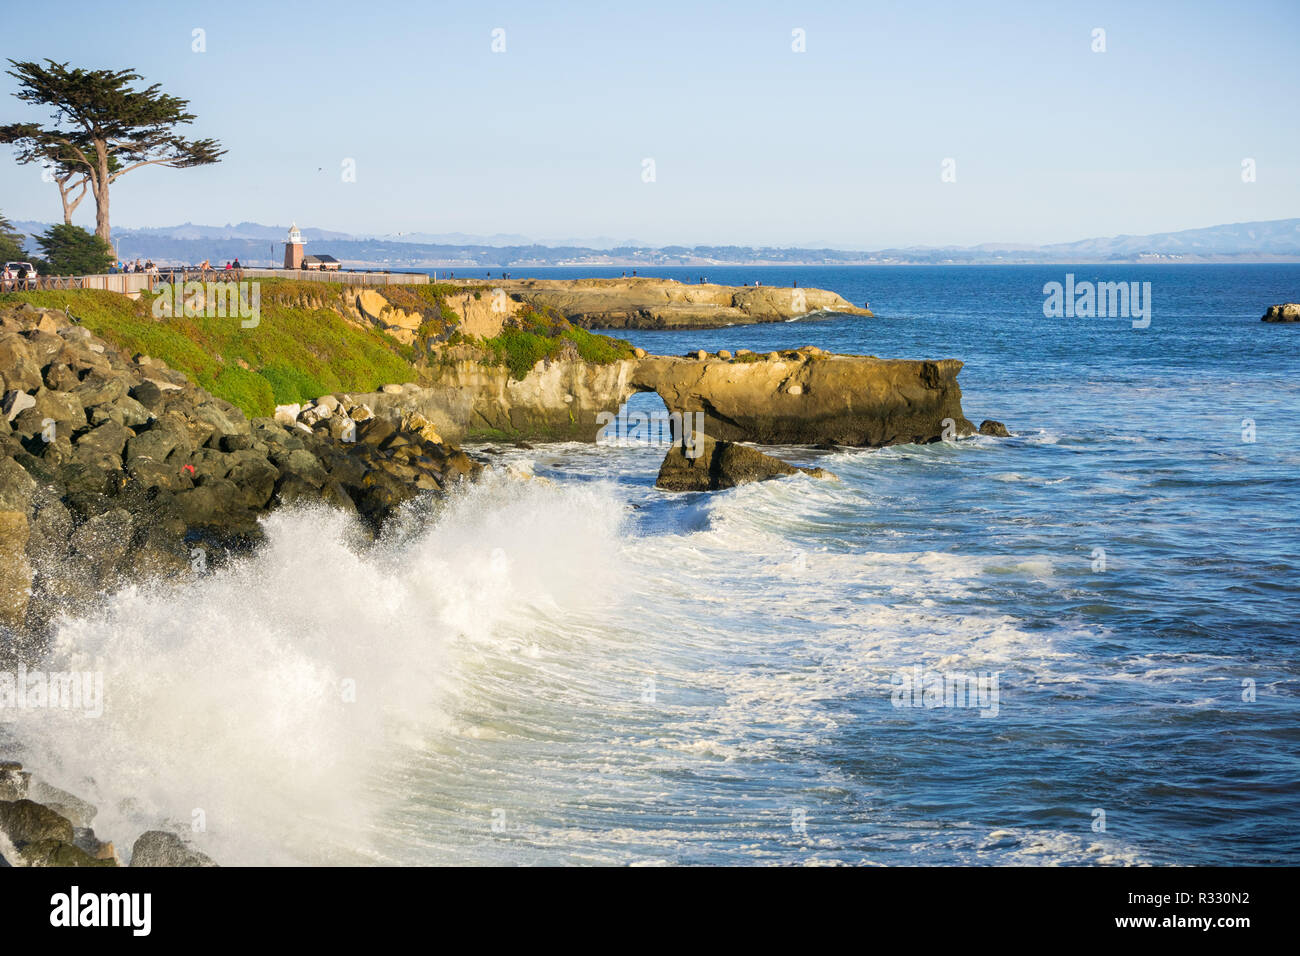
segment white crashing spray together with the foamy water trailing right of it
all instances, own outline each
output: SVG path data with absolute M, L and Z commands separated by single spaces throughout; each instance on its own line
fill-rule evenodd
M 676 498 L 632 535 L 625 490 L 529 479 L 550 454 L 504 455 L 520 467 L 376 546 L 282 512 L 246 561 L 69 614 L 55 657 L 103 667 L 105 714 L 26 722 L 30 763 L 118 845 L 202 809 L 195 840 L 226 864 L 878 862 L 854 840 L 887 814 L 819 809 L 789 835 L 792 806 L 874 796 L 824 756 L 861 719 L 846 701 L 888 708 L 915 665 L 1001 671 L 1011 713 L 1089 691 L 1070 626 L 979 607 L 1005 559 L 792 546 L 861 488 Z M 988 852 L 1008 856 L 972 838 L 933 858 Z

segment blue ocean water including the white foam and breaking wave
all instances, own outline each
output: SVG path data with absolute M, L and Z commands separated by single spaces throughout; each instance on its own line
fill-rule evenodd
M 1300 328 L 1258 321 L 1300 267 L 638 272 L 876 312 L 619 333 L 650 351 L 959 358 L 1013 437 L 710 496 L 656 492 L 662 447 L 480 447 L 377 546 L 282 512 L 69 609 L 105 713 L 22 756 L 228 864 L 1300 862 Z M 1149 281 L 1149 328 L 1045 319 L 1066 272 Z M 897 706 L 918 669 L 996 706 Z

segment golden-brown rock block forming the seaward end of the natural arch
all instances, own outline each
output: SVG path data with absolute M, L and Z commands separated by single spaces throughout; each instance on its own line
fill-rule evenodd
M 881 446 L 972 434 L 956 359 L 916 362 L 818 349 L 722 359 L 647 356 L 630 385 L 670 412 L 705 416 L 711 438 Z

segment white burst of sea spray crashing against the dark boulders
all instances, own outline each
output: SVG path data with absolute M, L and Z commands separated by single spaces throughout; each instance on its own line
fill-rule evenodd
M 246 559 L 69 609 L 49 666 L 95 662 L 104 714 L 20 713 L 25 760 L 120 845 L 165 821 L 224 864 L 367 860 L 373 777 L 454 723 L 458 656 L 606 600 L 624 511 L 489 477 L 411 518 L 365 546 L 341 512 L 281 511 Z

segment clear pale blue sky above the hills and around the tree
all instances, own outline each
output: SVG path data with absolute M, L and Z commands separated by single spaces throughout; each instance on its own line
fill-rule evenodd
M 1296 0 L 47 0 L 5 21 L 0 56 L 135 69 L 229 151 L 122 177 L 114 226 L 883 248 L 1300 216 Z M 0 122 L 42 118 L 0 81 Z M 57 221 L 12 159 L 0 212 Z

